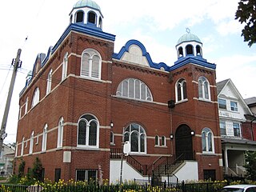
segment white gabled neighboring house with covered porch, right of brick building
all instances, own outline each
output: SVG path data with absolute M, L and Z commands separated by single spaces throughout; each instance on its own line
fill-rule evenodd
M 245 175 L 245 152 L 256 150 L 256 142 L 247 137 L 248 115 L 252 112 L 231 79 L 217 83 L 218 114 L 222 136 L 222 158 L 226 175 Z

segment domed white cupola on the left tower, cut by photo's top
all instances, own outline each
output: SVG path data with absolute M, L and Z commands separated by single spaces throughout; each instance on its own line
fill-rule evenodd
M 70 12 L 70 23 L 96 27 L 102 30 L 102 12 L 100 6 L 92 0 L 79 0 Z

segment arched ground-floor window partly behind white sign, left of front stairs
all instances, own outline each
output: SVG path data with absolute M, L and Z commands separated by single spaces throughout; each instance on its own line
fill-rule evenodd
M 131 123 L 124 132 L 125 142 L 130 142 L 131 153 L 146 154 L 146 131 L 137 123 Z

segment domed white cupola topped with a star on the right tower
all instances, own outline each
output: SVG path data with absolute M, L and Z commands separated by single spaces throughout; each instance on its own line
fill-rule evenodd
M 187 34 L 183 34 L 178 39 L 176 50 L 179 58 L 185 57 L 201 57 L 202 58 L 202 42 L 195 34 L 190 34 L 190 30 L 186 28 Z

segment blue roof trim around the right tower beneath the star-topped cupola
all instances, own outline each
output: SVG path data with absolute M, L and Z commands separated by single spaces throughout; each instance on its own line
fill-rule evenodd
M 216 65 L 214 63 L 207 62 L 206 59 L 199 56 L 191 56 L 186 58 L 179 58 L 177 62 L 174 62 L 174 66 L 170 66 L 170 71 L 176 70 L 181 66 L 185 66 L 190 62 L 198 66 L 205 66 L 213 70 L 216 69 Z

